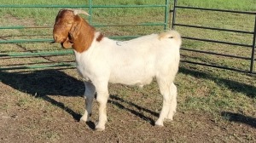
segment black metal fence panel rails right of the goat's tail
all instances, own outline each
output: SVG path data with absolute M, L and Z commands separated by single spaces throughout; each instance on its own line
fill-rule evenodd
M 207 27 L 207 26 L 193 26 L 193 25 L 179 24 L 176 22 L 177 9 L 181 9 L 181 10 L 182 9 L 193 9 L 193 10 L 212 11 L 212 12 L 219 12 L 219 13 L 252 14 L 255 16 L 255 21 L 253 24 L 254 30 L 253 31 L 238 31 L 238 30 L 234 30 L 234 29 L 222 29 L 222 28 L 213 28 L 213 27 Z M 220 56 L 225 56 L 225 57 L 232 57 L 232 58 L 236 58 L 236 59 L 250 60 L 249 70 L 241 70 L 241 69 L 236 69 L 236 68 L 231 68 L 231 67 L 226 67 L 226 66 L 218 66 L 218 65 L 194 62 L 194 61 L 189 61 L 189 60 L 182 60 L 183 62 L 201 65 L 201 66 L 218 67 L 218 68 L 223 68 L 223 69 L 237 71 L 237 72 L 248 72 L 248 73 L 253 73 L 253 74 L 256 73 L 255 71 L 253 71 L 253 64 L 255 61 L 254 53 L 255 53 L 255 39 L 256 39 L 256 12 L 235 11 L 235 10 L 226 10 L 226 9 L 205 9 L 205 8 L 195 8 L 195 7 L 188 7 L 188 6 L 179 6 L 179 5 L 177 5 L 177 0 L 174 0 L 173 9 L 171 10 L 171 12 L 173 13 L 172 14 L 172 29 L 176 28 L 177 26 L 182 26 L 182 27 L 189 27 L 189 28 L 212 30 L 212 31 L 229 31 L 229 32 L 249 34 L 252 36 L 252 39 L 253 39 L 252 44 L 243 44 L 243 43 L 224 42 L 224 41 L 204 39 L 204 38 L 196 38 L 196 37 L 183 37 L 183 39 L 201 41 L 201 42 L 206 42 L 206 43 L 229 44 L 229 45 L 241 46 L 244 48 L 250 48 L 251 49 L 250 57 L 242 57 L 242 56 L 236 56 L 236 55 L 232 55 L 232 54 L 218 54 L 215 52 L 203 51 L 203 50 L 197 50 L 197 49 L 188 49 L 188 48 L 184 48 L 184 47 L 182 48 L 182 50 L 189 51 L 189 52 L 214 54 L 214 55 L 220 55 Z

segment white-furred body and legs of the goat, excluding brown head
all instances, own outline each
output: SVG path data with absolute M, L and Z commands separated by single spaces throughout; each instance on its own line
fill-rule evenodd
M 96 32 L 96 36 L 98 34 Z M 89 120 L 92 100 L 97 93 L 99 122 L 96 129 L 105 129 L 108 83 L 143 86 L 151 83 L 153 77 L 163 95 L 163 107 L 155 124 L 163 126 L 164 119 L 172 120 L 177 106 L 177 88 L 173 80 L 178 70 L 180 45 L 181 37 L 177 31 L 168 31 L 125 42 L 108 37 L 97 42 L 94 37 L 88 50 L 83 53 L 74 51 L 79 74 L 86 80 L 86 104 L 81 120 Z

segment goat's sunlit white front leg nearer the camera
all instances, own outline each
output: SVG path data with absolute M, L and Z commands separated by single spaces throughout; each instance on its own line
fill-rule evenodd
M 108 83 L 101 83 L 101 86 L 96 87 L 96 101 L 99 104 L 99 121 L 96 124 L 96 130 L 102 131 L 107 123 L 107 103 L 108 103 Z

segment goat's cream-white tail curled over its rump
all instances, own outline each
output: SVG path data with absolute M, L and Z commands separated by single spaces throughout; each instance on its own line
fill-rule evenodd
M 182 39 L 180 34 L 177 31 L 166 31 L 166 32 L 162 32 L 158 35 L 158 39 L 165 39 L 165 38 L 172 38 L 175 40 L 175 42 L 180 46 L 182 43 Z

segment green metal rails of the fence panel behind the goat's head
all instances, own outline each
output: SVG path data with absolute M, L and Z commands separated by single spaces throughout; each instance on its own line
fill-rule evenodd
M 163 26 L 163 29 L 167 29 L 168 25 L 168 15 L 169 15 L 169 0 L 166 0 L 165 4 L 151 4 L 151 5 L 94 5 L 93 0 L 89 0 L 88 4 L 84 3 L 84 5 L 0 5 L 0 9 L 53 9 L 53 8 L 69 8 L 69 9 L 89 9 L 89 23 L 92 24 L 93 20 L 93 9 L 115 9 L 115 8 L 162 8 L 165 9 L 164 21 L 162 22 L 151 22 L 151 23 L 140 23 L 134 25 L 93 25 L 96 27 L 104 27 L 104 26 Z M 52 29 L 52 26 L 0 26 L 1 30 L 23 30 L 23 29 Z M 138 37 L 136 35 L 133 36 L 116 36 L 110 37 L 113 39 L 125 39 L 125 38 L 134 38 Z M 5 39 L 0 40 L 0 44 L 20 44 L 20 43 L 51 43 L 53 42 L 52 38 L 31 38 L 31 39 Z M 38 56 L 55 56 L 55 55 L 67 55 L 73 54 L 72 50 L 61 50 L 61 51 L 26 51 L 26 52 L 19 52 L 19 53 L 8 53 L 4 52 L 0 49 L 0 58 L 20 58 L 20 57 L 38 57 Z M 0 59 L 1 60 L 1 59 Z M 73 66 L 73 63 L 52 63 L 47 65 L 41 65 L 41 63 L 35 64 L 30 66 L 28 65 L 21 65 L 21 66 L 0 66 L 0 71 L 4 70 L 17 70 L 17 69 L 36 69 L 36 68 L 52 68 L 52 67 L 66 67 L 66 66 Z

